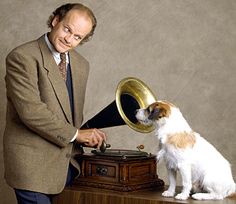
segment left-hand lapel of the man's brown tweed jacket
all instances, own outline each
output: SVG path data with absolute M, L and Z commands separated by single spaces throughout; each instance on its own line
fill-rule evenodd
M 44 35 L 39 38 L 38 42 L 43 57 L 43 66 L 48 71 L 48 78 L 52 84 L 58 102 L 61 105 L 61 108 L 66 116 L 66 119 L 70 123 L 73 123 L 70 109 L 70 99 L 67 87 L 63 78 L 61 77 L 61 74 L 53 58 L 53 55 L 45 42 Z

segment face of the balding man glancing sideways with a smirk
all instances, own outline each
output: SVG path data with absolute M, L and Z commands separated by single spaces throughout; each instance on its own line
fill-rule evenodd
M 79 45 L 91 31 L 92 21 L 85 13 L 72 9 L 61 21 L 55 16 L 52 26 L 49 40 L 56 51 L 64 53 Z

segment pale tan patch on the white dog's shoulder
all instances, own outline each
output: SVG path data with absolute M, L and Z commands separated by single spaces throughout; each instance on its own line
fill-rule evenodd
M 173 135 L 169 135 L 167 139 L 167 143 L 174 145 L 177 148 L 187 148 L 193 147 L 196 143 L 196 138 L 193 132 L 180 132 Z

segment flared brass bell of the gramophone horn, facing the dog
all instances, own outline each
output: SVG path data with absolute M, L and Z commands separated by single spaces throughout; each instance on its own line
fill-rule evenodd
M 135 112 L 157 101 L 149 87 L 141 80 L 128 77 L 121 80 L 116 89 L 116 106 L 124 122 L 133 130 L 149 133 L 154 125 L 146 126 L 138 122 Z

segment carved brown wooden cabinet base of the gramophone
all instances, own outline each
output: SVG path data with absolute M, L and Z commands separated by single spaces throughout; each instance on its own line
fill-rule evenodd
M 164 186 L 156 173 L 156 156 L 146 152 L 108 149 L 80 155 L 78 161 L 81 175 L 74 185 L 122 192 Z

